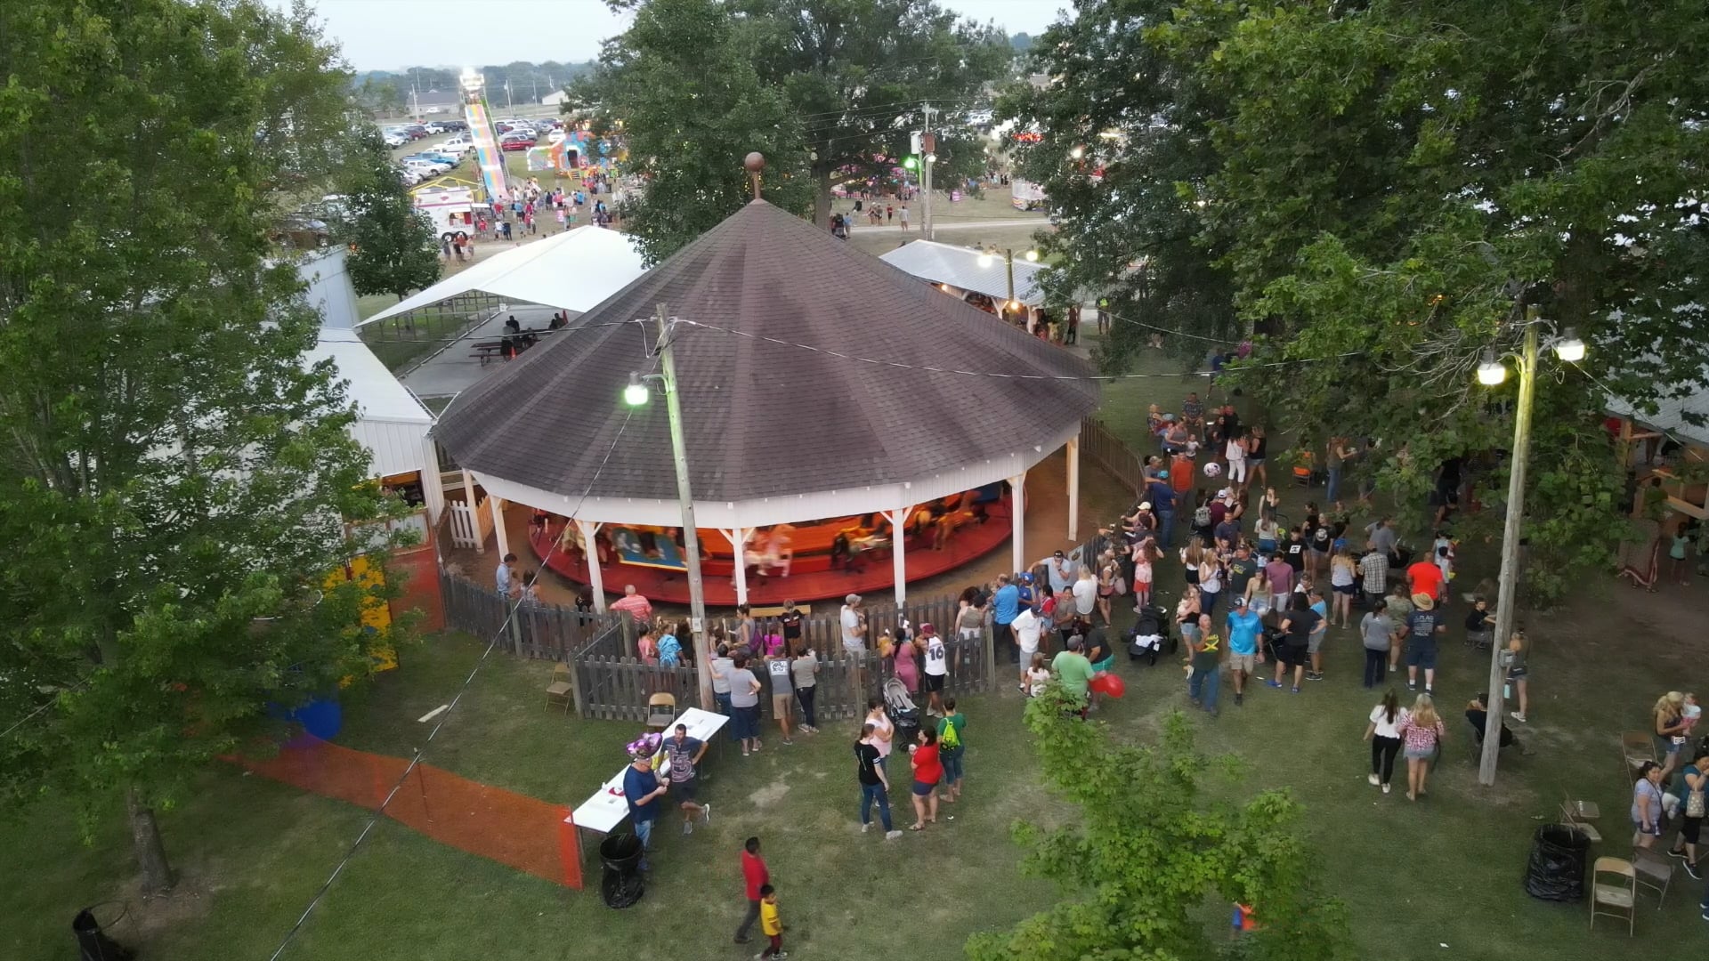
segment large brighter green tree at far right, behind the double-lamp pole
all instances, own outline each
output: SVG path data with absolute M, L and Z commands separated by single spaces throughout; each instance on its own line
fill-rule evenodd
M 1193 193 L 1266 333 L 1256 361 L 1354 356 L 1254 371 L 1270 409 L 1318 441 L 1383 438 L 1377 474 L 1408 503 L 1458 457 L 1487 462 L 1499 499 L 1506 458 L 1487 451 L 1511 436 L 1516 378 L 1490 392 L 1471 373 L 1538 306 L 1591 354 L 1538 380 L 1528 587 L 1559 597 L 1610 563 L 1608 390 L 1702 390 L 1709 361 L 1685 333 L 1709 270 L 1700 7 L 1195 0 L 1148 38 L 1227 103 Z

